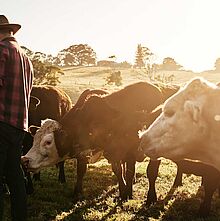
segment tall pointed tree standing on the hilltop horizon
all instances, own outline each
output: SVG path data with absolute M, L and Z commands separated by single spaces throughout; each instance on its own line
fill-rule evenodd
M 150 51 L 149 48 L 143 47 L 143 46 L 141 46 L 141 44 L 138 44 L 136 55 L 135 55 L 135 65 L 134 66 L 137 68 L 145 67 L 152 55 L 153 55 L 153 53 Z

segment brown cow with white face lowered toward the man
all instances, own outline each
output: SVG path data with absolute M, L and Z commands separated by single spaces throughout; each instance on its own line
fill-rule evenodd
M 23 161 L 28 161 L 29 170 L 36 171 L 68 157 L 103 152 L 118 178 L 120 198 L 132 198 L 135 162 L 143 159 L 137 154 L 137 132 L 161 101 L 159 88 L 148 82 L 137 82 L 104 96 L 90 96 L 60 122 L 45 121 Z

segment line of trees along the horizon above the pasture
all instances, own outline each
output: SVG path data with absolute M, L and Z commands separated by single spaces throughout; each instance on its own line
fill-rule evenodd
M 42 52 L 34 52 L 25 46 L 22 46 L 25 53 L 30 57 L 34 66 L 35 84 L 57 85 L 59 83 L 59 74 L 63 74 L 62 67 L 68 66 L 108 66 L 121 68 L 144 68 L 148 74 L 160 70 L 177 71 L 183 70 L 183 66 L 178 64 L 173 58 L 166 57 L 162 64 L 154 63 L 153 52 L 141 44 L 137 45 L 134 55 L 134 64 L 127 61 L 116 62 L 116 56 L 109 56 L 106 60 L 97 61 L 95 50 L 88 44 L 71 45 L 62 49 L 56 56 Z M 215 70 L 220 71 L 220 58 L 215 61 Z

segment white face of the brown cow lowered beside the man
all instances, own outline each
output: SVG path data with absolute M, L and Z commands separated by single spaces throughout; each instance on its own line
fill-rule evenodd
M 29 171 L 37 172 L 62 160 L 54 140 L 54 131 L 60 128 L 60 124 L 55 120 L 42 121 L 41 127 L 34 135 L 32 148 L 22 157 L 22 163 Z

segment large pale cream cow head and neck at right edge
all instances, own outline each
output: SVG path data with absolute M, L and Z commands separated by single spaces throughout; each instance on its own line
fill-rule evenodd
M 139 148 L 151 158 L 200 160 L 220 170 L 220 87 L 192 79 L 164 103 Z

